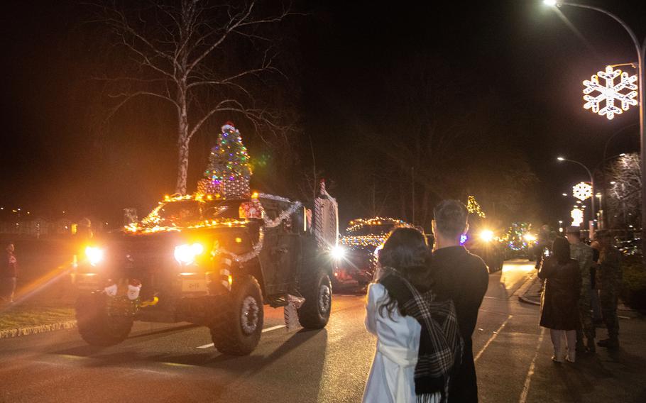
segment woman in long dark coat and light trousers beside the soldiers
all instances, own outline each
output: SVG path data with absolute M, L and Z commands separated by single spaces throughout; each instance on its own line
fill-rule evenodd
M 545 280 L 541 296 L 540 326 L 548 328 L 552 337 L 552 360 L 562 363 L 566 359 L 574 363 L 581 272 L 579 263 L 570 258 L 570 246 L 565 238 L 556 238 L 552 251 L 552 256 L 543 261 L 538 272 L 538 277 Z M 562 345 L 563 339 L 566 340 L 567 355 Z

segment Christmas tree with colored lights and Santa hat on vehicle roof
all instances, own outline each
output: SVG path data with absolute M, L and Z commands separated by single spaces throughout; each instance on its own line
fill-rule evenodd
M 197 182 L 197 192 L 216 198 L 248 197 L 250 179 L 249 155 L 240 132 L 233 123 L 226 122 L 211 149 L 204 179 Z

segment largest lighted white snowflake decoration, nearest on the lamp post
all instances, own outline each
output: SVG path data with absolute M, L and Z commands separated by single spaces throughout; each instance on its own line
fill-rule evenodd
M 606 85 L 599 84 L 599 77 L 606 80 Z M 619 83 L 615 84 L 615 79 L 619 77 Z M 592 109 L 595 114 L 600 116 L 606 115 L 608 120 L 619 115 L 623 111 L 628 111 L 630 105 L 637 105 L 637 75 L 629 76 L 627 72 L 613 70 L 613 67 L 606 66 L 605 72 L 597 72 L 591 79 L 584 80 L 584 104 L 585 109 Z M 598 95 L 592 96 L 593 92 Z M 621 108 L 615 106 L 615 100 L 621 102 Z M 606 106 L 599 109 L 599 104 L 606 101 Z

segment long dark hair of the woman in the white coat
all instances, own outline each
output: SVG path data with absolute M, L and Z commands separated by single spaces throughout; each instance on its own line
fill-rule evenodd
M 379 251 L 378 262 L 382 270 L 395 271 L 415 288 L 425 292 L 431 286 L 429 259 L 430 251 L 424 234 L 415 228 L 398 227 L 388 234 L 383 249 Z M 383 316 L 385 309 L 392 318 L 396 306 L 395 299 L 388 297 L 387 302 L 379 307 L 379 313 Z M 402 307 L 398 308 L 400 314 L 406 316 Z

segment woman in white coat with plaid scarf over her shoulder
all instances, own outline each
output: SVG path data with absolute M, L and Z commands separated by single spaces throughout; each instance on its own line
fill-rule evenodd
M 377 336 L 363 402 L 447 402 L 463 342 L 455 308 L 432 290 L 425 236 L 395 228 L 368 287 L 366 329 Z

